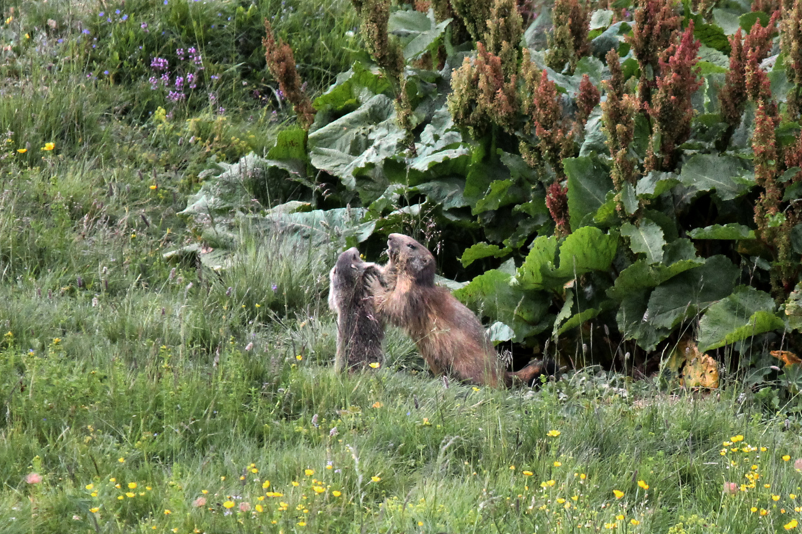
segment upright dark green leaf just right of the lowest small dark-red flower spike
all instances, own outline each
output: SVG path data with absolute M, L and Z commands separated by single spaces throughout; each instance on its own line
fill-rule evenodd
M 593 223 L 593 215 L 613 189 L 610 171 L 596 157 L 581 156 L 562 160 L 568 176 L 568 212 L 572 230 Z

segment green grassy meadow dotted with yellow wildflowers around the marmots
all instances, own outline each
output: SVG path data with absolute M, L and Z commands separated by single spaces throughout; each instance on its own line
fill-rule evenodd
M 796 395 L 598 367 L 495 391 L 398 331 L 335 375 L 334 244 L 243 219 L 226 269 L 164 257 L 206 246 L 177 215 L 199 175 L 291 121 L 262 19 L 316 94 L 363 54 L 346 0 L 0 7 L 0 532 L 799 528 Z

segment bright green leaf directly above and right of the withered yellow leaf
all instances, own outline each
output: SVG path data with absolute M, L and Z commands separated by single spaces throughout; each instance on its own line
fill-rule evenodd
M 784 326 L 772 295 L 741 286 L 707 308 L 699 320 L 699 350 L 709 351 Z

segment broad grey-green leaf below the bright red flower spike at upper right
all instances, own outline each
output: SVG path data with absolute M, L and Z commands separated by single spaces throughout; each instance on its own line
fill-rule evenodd
M 747 193 L 755 183 L 754 175 L 735 156 L 697 154 L 683 165 L 679 181 L 699 191 L 715 189 L 722 200 L 731 200 Z

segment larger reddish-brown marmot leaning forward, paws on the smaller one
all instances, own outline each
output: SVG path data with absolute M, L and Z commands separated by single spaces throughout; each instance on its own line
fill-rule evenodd
M 408 235 L 391 234 L 387 255 L 382 280 L 371 281 L 376 309 L 407 331 L 435 375 L 452 373 L 497 387 L 514 379 L 531 383 L 541 373 L 540 363 L 515 373 L 504 371 L 476 315 L 451 291 L 435 286 L 435 257 L 426 247 Z

